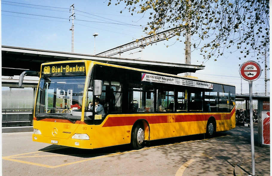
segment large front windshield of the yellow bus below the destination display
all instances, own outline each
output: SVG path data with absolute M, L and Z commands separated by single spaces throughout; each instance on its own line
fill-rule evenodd
M 35 108 L 37 120 L 80 120 L 85 80 L 86 76 L 41 78 Z

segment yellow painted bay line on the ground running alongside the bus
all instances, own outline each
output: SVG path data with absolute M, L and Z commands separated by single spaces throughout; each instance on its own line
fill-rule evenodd
M 226 136 L 230 136 L 230 135 L 226 135 Z M 219 136 L 219 137 L 215 137 L 215 138 L 220 138 L 220 137 L 225 137 L 225 136 Z M 215 138 L 211 138 L 211 139 L 215 139 Z M 105 157 L 111 157 L 111 156 L 115 156 L 115 155 L 119 155 L 119 154 L 126 154 L 126 153 L 130 153 L 130 152 L 134 152 L 134 151 L 141 151 L 141 150 L 146 150 L 146 149 L 151 149 L 151 148 L 158 148 L 158 147 L 164 147 L 164 146 L 170 146 L 170 145 L 176 145 L 176 144 L 198 142 L 198 141 L 204 141 L 204 140 L 208 140 L 208 139 L 200 139 L 200 140 L 193 140 L 193 141 L 176 142 L 174 144 L 166 144 L 166 145 L 158 145 L 158 146 L 153 146 L 153 147 L 146 147 L 146 148 L 142 148 L 140 150 L 131 150 L 131 151 L 118 152 L 118 153 L 113 153 L 113 154 L 107 154 L 107 155 L 103 155 L 103 156 L 93 157 L 93 158 L 89 158 L 89 159 L 86 159 L 86 160 L 80 160 L 80 161 L 75 161 L 75 162 L 71 162 L 71 163 L 60 164 L 60 165 L 57 165 L 57 166 L 49 166 L 49 165 L 45 165 L 45 164 L 32 163 L 32 162 L 22 161 L 22 160 L 14 160 L 14 159 L 10 158 L 10 157 L 16 158 L 15 156 L 20 156 L 20 155 L 25 155 L 25 154 L 32 154 L 32 153 L 38 153 L 38 152 L 42 152 L 42 151 L 35 151 L 35 152 L 30 152 L 30 153 L 25 153 L 25 154 L 11 155 L 11 156 L 7 156 L 7 157 L 2 157 L 2 159 L 4 159 L 4 160 L 10 160 L 10 161 L 15 161 L 15 162 L 19 162 L 19 163 L 31 164 L 31 165 L 35 165 L 35 166 L 46 167 L 46 168 L 57 168 L 57 167 L 71 165 L 71 164 L 82 163 L 82 162 L 85 162 L 85 161 L 91 161 L 91 160 L 95 160 L 95 159 L 100 159 L 100 158 L 105 158 Z M 63 147 L 63 148 L 68 148 L 68 147 Z M 54 149 L 49 149 L 49 150 L 45 150 L 45 151 L 51 151 L 51 150 L 57 150 L 57 149 L 62 149 L 62 148 L 54 148 Z M 58 155 L 54 155 L 54 156 L 58 156 Z M 35 156 L 33 156 L 33 157 L 35 157 Z M 188 166 L 190 164 L 188 164 Z

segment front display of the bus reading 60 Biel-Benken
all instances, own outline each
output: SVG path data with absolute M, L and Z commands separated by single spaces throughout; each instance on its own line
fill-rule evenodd
M 42 76 L 83 76 L 85 74 L 84 62 L 59 63 L 42 66 Z

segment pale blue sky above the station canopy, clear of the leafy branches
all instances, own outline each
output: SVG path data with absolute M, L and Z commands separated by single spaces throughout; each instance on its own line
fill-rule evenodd
M 71 31 L 69 29 L 72 22 L 69 22 L 68 18 L 71 15 L 69 8 L 72 4 L 74 4 L 76 16 L 76 20 L 74 20 L 74 53 L 94 54 L 94 33 L 99 34 L 95 41 L 96 53 L 146 36 L 140 25 L 145 26 L 148 17 L 143 16 L 143 14 L 131 16 L 128 11 L 124 10 L 124 4 L 115 6 L 114 1 L 112 5 L 108 6 L 108 1 L 106 0 L 11 0 L 1 1 L 2 45 L 71 52 Z M 120 14 L 120 10 L 123 13 Z M 192 42 L 197 39 L 198 37 L 192 36 Z M 172 38 L 152 46 L 149 45 L 142 52 L 137 52 L 140 48 L 130 50 L 123 53 L 121 57 L 184 63 L 185 45 L 183 42 L 175 43 L 175 40 L 176 38 Z M 180 37 L 180 40 L 184 41 L 184 38 Z M 175 44 L 172 45 L 173 43 Z M 172 46 L 166 48 L 166 45 Z M 192 73 L 192 76 L 209 81 L 233 84 L 236 86 L 236 93 L 240 93 L 241 77 L 239 75 L 239 64 L 247 60 L 255 60 L 259 61 L 262 69 L 264 69 L 265 57 L 263 56 L 261 59 L 256 60 L 257 56 L 254 53 L 253 57 L 248 56 L 247 58 L 244 58 L 244 54 L 241 54 L 239 51 L 230 54 L 234 50 L 235 47 L 225 50 L 223 56 L 216 58 L 217 61 L 213 59 L 208 60 L 204 63 L 205 69 Z M 119 55 L 114 55 L 113 57 L 119 57 Z M 239 60 L 239 57 L 241 57 L 241 60 Z M 202 61 L 203 57 L 200 55 L 200 51 L 193 51 L 191 63 L 200 65 Z M 270 65 L 269 56 L 267 61 L 267 64 Z M 269 70 L 267 75 L 270 78 Z M 253 82 L 253 93 L 265 92 L 264 78 L 265 72 L 263 71 L 259 80 Z M 270 89 L 269 83 L 270 81 L 268 81 L 268 92 Z M 242 80 L 242 93 L 249 93 L 248 82 L 245 80 Z

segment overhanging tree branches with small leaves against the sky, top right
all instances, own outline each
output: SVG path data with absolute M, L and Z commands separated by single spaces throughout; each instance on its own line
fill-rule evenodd
M 117 0 L 115 5 L 122 2 L 131 15 L 149 16 L 146 34 L 180 27 L 199 37 L 191 46 L 200 47 L 204 60 L 216 60 L 233 45 L 243 57 L 255 53 L 258 59 L 269 51 L 268 0 Z

